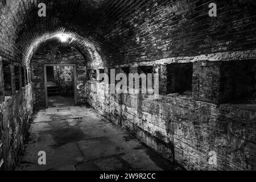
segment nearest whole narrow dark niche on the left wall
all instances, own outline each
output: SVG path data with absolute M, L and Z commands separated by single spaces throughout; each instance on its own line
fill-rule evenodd
M 11 68 L 10 63 L 3 61 L 3 81 L 5 84 L 5 96 L 11 96 Z

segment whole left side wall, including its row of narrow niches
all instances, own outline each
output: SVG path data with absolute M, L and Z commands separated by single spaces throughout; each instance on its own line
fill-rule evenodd
M 26 74 L 30 70 L 25 68 L 0 56 L 0 170 L 15 169 L 18 164 L 33 111 L 31 81 Z

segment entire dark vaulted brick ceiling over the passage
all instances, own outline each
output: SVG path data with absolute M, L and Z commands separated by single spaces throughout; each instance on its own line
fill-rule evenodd
M 0 0 L 0 55 L 30 61 L 40 43 L 60 32 L 73 46 L 104 64 L 255 48 L 256 2 L 217 1 L 218 18 L 209 18 L 211 1 L 194 0 Z M 38 16 L 46 3 L 47 16 Z M 246 36 L 245 36 L 246 35 Z

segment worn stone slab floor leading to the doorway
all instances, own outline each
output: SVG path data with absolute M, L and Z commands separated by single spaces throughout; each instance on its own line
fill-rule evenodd
M 89 106 L 60 105 L 33 116 L 17 170 L 177 170 Z M 46 165 L 38 152 L 46 152 Z

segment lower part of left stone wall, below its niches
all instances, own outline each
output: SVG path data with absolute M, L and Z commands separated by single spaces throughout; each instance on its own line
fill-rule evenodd
M 2 169 L 15 169 L 16 164 L 18 164 L 32 111 L 31 85 L 26 85 L 15 96 L 6 97 L 5 101 L 0 102 L 0 122 L 2 126 L 0 129 L 2 130 L 2 136 L 0 135 L 0 137 L 2 137 L 3 142 L 2 152 L 4 161 Z

